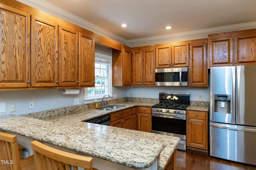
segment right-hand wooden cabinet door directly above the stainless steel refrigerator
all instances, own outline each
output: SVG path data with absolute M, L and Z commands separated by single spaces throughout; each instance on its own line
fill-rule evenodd
M 236 65 L 256 64 L 256 34 L 234 38 Z

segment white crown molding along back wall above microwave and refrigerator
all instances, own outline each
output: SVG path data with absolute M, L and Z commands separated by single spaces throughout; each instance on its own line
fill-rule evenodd
M 153 37 L 131 39 L 131 40 L 127 40 L 127 43 L 136 43 L 136 42 L 142 42 L 142 41 L 179 37 L 179 36 L 184 36 L 184 35 L 193 35 L 193 34 L 200 34 L 200 33 L 210 33 L 210 32 L 215 32 L 215 31 L 226 31 L 228 29 L 240 29 L 240 28 L 245 28 L 245 27 L 256 27 L 256 22 L 240 23 L 240 24 L 227 25 L 227 26 L 222 26 L 222 27 L 213 27 L 213 28 L 207 28 L 207 29 L 198 29 L 198 30 L 194 30 L 194 31 L 186 31 L 186 32 L 181 32 L 181 33 L 172 33 L 172 34 L 158 35 L 158 36 L 153 36 Z

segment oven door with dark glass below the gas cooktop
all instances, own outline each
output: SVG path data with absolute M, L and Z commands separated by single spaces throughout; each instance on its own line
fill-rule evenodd
M 152 112 L 152 133 L 179 137 L 186 141 L 186 115 Z

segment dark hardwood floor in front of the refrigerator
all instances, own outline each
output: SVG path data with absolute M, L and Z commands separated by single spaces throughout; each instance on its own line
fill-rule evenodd
M 177 150 L 177 170 L 256 170 L 256 166 L 215 158 L 208 153 L 188 149 Z

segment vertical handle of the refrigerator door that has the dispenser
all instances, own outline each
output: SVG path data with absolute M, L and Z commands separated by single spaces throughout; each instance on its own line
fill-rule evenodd
M 236 120 L 236 67 L 232 66 L 232 102 L 231 102 L 231 123 Z

